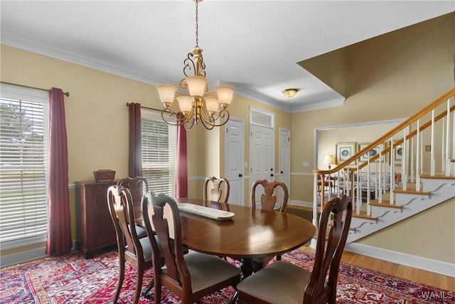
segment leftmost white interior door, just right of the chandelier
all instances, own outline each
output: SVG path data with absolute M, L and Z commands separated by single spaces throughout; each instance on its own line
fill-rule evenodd
M 225 125 L 225 178 L 229 180 L 228 202 L 244 206 L 245 136 L 242 120 L 230 118 Z

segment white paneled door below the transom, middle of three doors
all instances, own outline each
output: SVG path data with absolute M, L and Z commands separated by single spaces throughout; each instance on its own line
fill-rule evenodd
M 259 179 L 274 179 L 273 128 L 250 125 L 250 189 Z M 257 192 L 256 199 L 260 199 Z M 259 201 L 256 202 L 260 206 Z

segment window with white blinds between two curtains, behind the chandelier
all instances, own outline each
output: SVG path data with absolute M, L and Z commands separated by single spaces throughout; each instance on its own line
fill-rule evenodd
M 156 194 L 176 193 L 176 131 L 161 114 L 141 109 L 142 175 Z

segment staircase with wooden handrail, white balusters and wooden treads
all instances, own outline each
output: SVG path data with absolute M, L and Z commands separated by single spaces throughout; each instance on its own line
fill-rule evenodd
M 347 243 L 455 197 L 454 96 L 452 88 L 337 167 L 314 170 L 313 223 L 326 203 L 322 187 L 318 205 L 319 177 L 336 177 L 337 193 L 353 199 Z M 396 184 L 392 177 L 400 176 Z

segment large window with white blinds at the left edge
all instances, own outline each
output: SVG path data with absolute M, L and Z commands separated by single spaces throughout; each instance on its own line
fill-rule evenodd
M 1 85 L 0 244 L 15 248 L 46 240 L 48 94 Z

